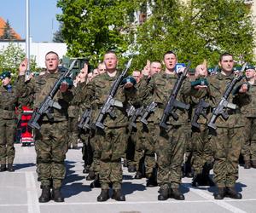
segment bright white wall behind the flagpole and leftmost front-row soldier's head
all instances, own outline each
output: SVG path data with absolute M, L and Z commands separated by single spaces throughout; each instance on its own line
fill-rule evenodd
M 15 42 L 17 46 L 24 49 L 26 52 L 25 42 Z M 8 42 L 0 42 L 0 49 L 6 48 L 9 45 Z M 44 66 L 44 56 L 49 51 L 55 51 L 60 59 L 63 55 L 67 54 L 67 44 L 66 43 L 30 43 L 30 55 L 35 56 L 38 67 Z

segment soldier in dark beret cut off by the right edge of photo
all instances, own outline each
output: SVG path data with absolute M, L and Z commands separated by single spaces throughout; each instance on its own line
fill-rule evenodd
M 255 66 L 247 65 L 247 95 L 242 97 L 246 106 L 241 106 L 241 114 L 245 119 L 245 142 L 241 147 L 241 155 L 244 159 L 244 168 L 250 169 L 251 166 L 256 169 L 256 81 Z

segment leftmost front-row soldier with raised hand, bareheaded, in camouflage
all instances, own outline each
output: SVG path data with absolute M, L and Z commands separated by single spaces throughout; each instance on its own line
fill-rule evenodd
M 60 78 L 59 62 L 59 56 L 55 52 L 48 52 L 45 55 L 47 69 L 45 74 L 27 82 L 24 79 L 27 60 L 21 62 L 17 87 L 21 96 L 34 95 L 34 110 L 37 110 L 55 82 Z M 40 130 L 35 130 L 38 175 L 41 179 L 42 188 L 42 194 L 38 199 L 40 203 L 49 202 L 51 197 L 55 202 L 64 201 L 61 195 L 61 184 L 66 173 L 64 159 L 67 153 L 67 107 L 72 97 L 66 80 L 61 83 L 59 91 L 53 97 L 61 109 L 51 108 L 49 113 L 53 119 L 44 115 L 39 122 Z M 50 195 L 51 182 L 53 189 Z

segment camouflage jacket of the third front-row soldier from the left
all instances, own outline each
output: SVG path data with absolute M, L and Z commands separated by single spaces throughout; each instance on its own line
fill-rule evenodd
M 157 103 L 157 108 L 154 113 L 148 118 L 148 122 L 154 122 L 154 124 L 160 123 L 160 118 L 163 115 L 166 103 L 172 92 L 172 88 L 177 81 L 177 75 L 166 74 L 165 72 L 160 72 L 154 74 L 154 76 L 148 80 L 148 78 L 143 78 L 143 87 L 141 87 L 140 96 L 143 98 L 143 105 L 147 106 L 152 101 Z M 183 81 L 182 88 L 177 94 L 177 101 L 188 103 L 187 95 L 192 95 L 197 93 L 196 90 L 192 90 L 191 83 L 186 78 Z M 172 116 L 169 118 L 169 124 L 172 125 L 182 125 L 188 124 L 188 112 L 187 110 L 176 109 L 178 120 L 175 121 Z

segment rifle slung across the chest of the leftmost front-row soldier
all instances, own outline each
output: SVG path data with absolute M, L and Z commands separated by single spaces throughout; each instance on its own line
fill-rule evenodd
M 44 98 L 44 101 L 40 104 L 37 111 L 32 113 L 32 118 L 29 120 L 28 125 L 32 128 L 36 128 L 40 130 L 40 125 L 38 124 L 38 120 L 42 118 L 44 114 L 46 114 L 47 118 L 53 119 L 52 115 L 49 113 L 50 109 L 53 107 L 55 109 L 61 109 L 61 105 L 53 100 L 55 94 L 60 88 L 60 85 L 64 78 L 66 78 L 73 69 L 77 60 L 73 60 L 72 64 L 68 68 L 66 72 L 64 72 L 61 77 L 55 82 L 53 89 L 50 90 L 49 95 Z

